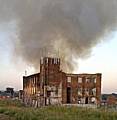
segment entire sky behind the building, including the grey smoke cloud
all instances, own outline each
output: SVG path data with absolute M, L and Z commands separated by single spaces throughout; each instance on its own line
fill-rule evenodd
M 0 89 L 22 89 L 48 46 L 74 73 L 102 73 L 102 92 L 117 93 L 116 0 L 0 0 Z

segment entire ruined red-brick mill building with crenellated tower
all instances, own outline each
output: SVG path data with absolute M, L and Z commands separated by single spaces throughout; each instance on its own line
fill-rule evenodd
M 101 74 L 68 74 L 60 58 L 40 59 L 40 73 L 23 77 L 23 101 L 36 106 L 100 104 Z

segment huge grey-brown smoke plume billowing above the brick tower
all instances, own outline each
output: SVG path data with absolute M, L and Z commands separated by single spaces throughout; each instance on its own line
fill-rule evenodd
M 15 53 L 39 66 L 58 55 L 72 71 L 101 37 L 117 27 L 117 0 L 0 0 L 0 23 L 15 21 Z

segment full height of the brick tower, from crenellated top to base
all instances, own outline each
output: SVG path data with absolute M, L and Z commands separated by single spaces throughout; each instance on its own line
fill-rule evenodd
M 55 101 L 57 97 L 55 94 L 58 94 L 57 88 L 60 86 L 60 73 L 59 58 L 44 57 L 40 59 L 40 93 L 43 105 Z

